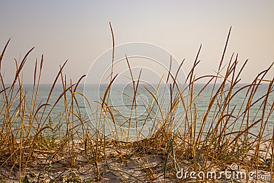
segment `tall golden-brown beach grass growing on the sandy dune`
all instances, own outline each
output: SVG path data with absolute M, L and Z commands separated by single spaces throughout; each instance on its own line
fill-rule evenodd
M 231 30 L 231 29 L 230 29 Z M 229 34 L 230 34 L 229 30 Z M 273 64 L 258 75 L 250 84 L 240 84 L 240 75 L 247 61 L 240 66 L 238 55 L 232 54 L 226 62 L 225 49 L 214 75 L 197 76 L 199 51 L 186 75 L 186 80 L 167 73 L 169 101 L 158 98 L 157 93 L 146 88 L 153 99 L 147 108 L 147 119 L 155 120 L 155 130 L 148 138 L 126 141 L 121 132 L 114 129 L 105 136 L 106 121 L 116 123 L 117 114 L 122 112 L 110 105 L 110 92 L 116 75 L 110 82 L 97 108 L 92 108 L 88 98 L 79 90 L 83 75 L 77 82 L 64 74 L 66 62 L 60 66 L 55 80 L 44 101 L 38 100 L 40 78 L 44 57 L 36 60 L 34 84 L 31 92 L 25 89 L 21 73 L 32 52 L 30 49 L 22 60 L 15 60 L 16 72 L 11 84 L 5 83 L 1 68 L 6 43 L 0 58 L 0 177 L 1 182 L 222 182 L 225 176 L 193 179 L 179 177 L 184 172 L 220 173 L 227 169 L 270 175 L 273 182 L 273 129 L 269 121 L 273 118 L 273 78 L 265 78 Z M 112 71 L 115 69 L 114 34 Z M 130 73 L 130 60 L 127 58 Z M 179 67 L 184 65 L 184 61 Z M 178 68 L 179 71 L 180 68 Z M 134 112 L 136 96 L 140 91 L 140 74 L 132 75 L 132 113 L 123 116 L 127 124 L 137 123 Z M 178 82 L 180 81 L 180 82 Z M 197 83 L 203 82 L 201 88 Z M 58 82 L 62 90 L 55 99 L 53 90 Z M 160 87 L 161 82 L 158 84 Z M 264 95 L 256 97 L 261 86 L 266 87 Z M 201 85 L 200 85 L 201 86 Z M 158 90 L 156 90 L 157 92 Z M 244 92 L 245 95 L 240 95 Z M 203 93 L 209 93 L 206 108 L 197 107 Z M 84 100 L 92 115 L 89 117 L 80 109 Z M 234 100 L 240 100 L 235 105 Z M 168 110 L 162 107 L 169 103 Z M 53 114 L 62 106 L 60 114 Z M 255 113 L 255 114 L 254 114 Z M 121 119 L 121 117 L 119 117 Z M 93 126 L 92 123 L 97 124 Z M 118 123 L 118 122 L 117 122 Z M 175 129 L 175 126 L 179 125 Z M 116 126 L 116 125 L 115 125 Z M 253 130 L 254 128 L 257 129 Z M 129 130 L 129 129 L 128 129 Z M 122 133 L 123 134 L 123 133 Z M 234 169 L 232 165 L 235 165 Z M 179 172 L 179 174 L 178 174 Z M 180 174 L 180 175 L 181 175 Z M 202 175 L 202 174 L 201 174 Z M 230 177 L 230 181 L 247 182 L 247 178 Z

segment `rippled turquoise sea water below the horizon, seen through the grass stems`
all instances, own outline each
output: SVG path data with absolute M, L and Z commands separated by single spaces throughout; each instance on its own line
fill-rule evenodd
M 195 88 L 193 90 L 194 96 L 197 96 L 201 88 L 203 88 L 204 84 L 195 84 Z M 238 84 L 236 88 L 241 88 L 242 84 Z M 161 85 L 159 88 L 155 84 L 139 84 L 138 85 L 138 93 L 134 94 L 134 88 L 132 84 L 129 85 L 123 85 L 123 84 L 114 84 L 111 88 L 110 95 L 105 96 L 105 101 L 108 101 L 109 110 L 108 112 L 103 113 L 100 117 L 100 106 L 101 101 L 103 100 L 105 90 L 108 88 L 107 85 L 98 85 L 98 84 L 88 84 L 84 86 L 84 84 L 80 84 L 78 86 L 77 91 L 80 93 L 83 93 L 88 101 L 90 102 L 90 106 L 88 105 L 87 101 L 84 100 L 84 98 L 79 94 L 75 94 L 77 98 L 77 103 L 74 102 L 74 106 L 78 105 L 79 108 L 77 110 L 75 109 L 73 112 L 77 115 L 81 115 L 83 119 L 85 119 L 84 123 L 88 130 L 95 130 L 95 127 L 98 127 L 101 125 L 101 123 L 98 123 L 98 119 L 101 119 L 105 125 L 104 127 L 99 127 L 99 130 L 103 130 L 105 134 L 109 136 L 116 136 L 116 138 L 119 138 L 119 136 L 133 136 L 134 138 L 146 138 L 149 136 L 149 134 L 153 134 L 156 129 L 160 127 L 162 124 L 163 118 L 165 117 L 167 112 L 169 112 L 170 108 L 170 97 L 171 93 L 169 91 L 170 86 L 164 86 Z M 212 95 L 212 87 L 213 85 L 208 86 L 205 90 L 203 90 L 203 93 L 195 99 L 195 104 L 197 107 L 197 129 L 199 129 L 201 125 L 201 119 L 203 118 L 203 115 L 208 110 L 208 104 L 210 103 L 210 96 Z M 262 102 L 264 101 L 266 94 L 266 91 L 268 89 L 267 84 L 262 84 L 259 89 L 256 92 L 256 95 L 254 95 L 253 102 L 260 99 L 258 103 L 254 104 L 250 108 L 249 112 L 249 125 L 253 123 L 253 121 L 257 121 L 262 117 Z M 26 93 L 26 100 L 27 103 L 32 103 L 32 88 L 33 85 L 24 85 L 24 90 Z M 49 96 L 49 90 L 51 88 L 51 85 L 49 84 L 42 84 L 39 87 L 38 90 L 38 98 L 37 103 L 46 103 L 47 97 Z M 219 88 L 219 86 L 216 86 L 216 88 Z M 154 97 L 151 95 L 151 93 L 148 92 L 148 90 L 153 93 Z M 272 88 L 273 90 L 273 88 Z M 214 89 L 214 92 L 216 89 Z M 236 91 L 236 90 L 235 90 Z M 234 92 L 235 92 L 234 91 Z M 41 118 L 43 121 L 45 121 L 45 124 L 47 124 L 49 121 L 55 121 L 55 123 L 58 123 L 58 121 L 61 121 L 61 123 L 64 123 L 62 121 L 65 121 L 64 118 L 66 116 L 66 112 L 64 111 L 64 97 L 60 98 L 60 101 L 55 105 L 53 110 L 51 110 L 51 107 L 54 105 L 55 101 L 60 97 L 60 95 L 63 93 L 62 85 L 56 85 L 53 93 L 51 95 L 51 98 L 49 99 L 48 103 L 51 106 L 47 106 L 47 108 L 43 107 L 38 111 L 38 118 Z M 173 99 L 176 96 L 176 90 L 173 91 Z M 15 94 L 14 94 L 15 95 Z M 66 93 L 68 97 L 68 103 L 71 103 L 71 94 L 69 91 Z M 136 100 L 133 100 L 133 96 L 136 95 Z M 188 90 L 184 92 L 184 95 L 188 95 Z M 231 112 L 234 108 L 233 116 L 238 117 L 238 119 L 231 118 L 229 119 L 229 123 L 233 123 L 236 121 L 234 126 L 234 131 L 239 130 L 240 123 L 243 119 L 243 109 L 245 109 L 245 105 L 247 103 L 247 99 L 245 99 L 245 95 L 247 95 L 247 89 L 242 90 L 240 93 L 237 93 L 235 95 L 234 99 L 229 103 L 229 109 L 228 111 Z M 247 95 L 249 97 L 250 93 Z M 158 103 L 155 102 L 155 99 L 158 100 Z M 274 95 L 273 92 L 269 95 L 268 103 L 266 105 L 266 114 L 264 115 L 264 121 L 266 121 L 266 116 L 269 114 L 269 110 L 271 108 L 271 105 L 274 101 Z M 1 95 L 1 105 L 0 107 L 3 107 L 3 95 Z M 187 103 L 187 98 L 184 100 L 185 103 Z M 16 104 L 19 103 L 19 97 L 16 96 L 16 100 L 14 101 L 14 106 L 17 106 Z M 242 103 L 245 103 L 243 106 L 243 109 L 241 110 Z M 133 105 L 132 105 L 133 104 Z M 218 105 L 217 102 L 214 103 L 214 106 Z M 132 107 L 134 106 L 134 107 Z M 193 105 L 194 106 L 194 105 Z M 222 106 L 221 106 L 222 107 Z M 45 108 L 45 114 L 42 115 L 42 111 Z M 159 110 L 161 108 L 161 110 Z M 212 107 L 212 109 L 215 109 Z M 71 109 L 70 109 L 71 110 Z M 112 120 L 112 117 L 109 113 L 109 111 L 112 110 L 112 114 L 114 115 L 114 121 Z M 29 109 L 27 108 L 27 111 Z M 50 118 L 47 117 L 47 114 L 50 113 Z M 12 112 L 16 112 L 16 109 L 14 108 Z M 189 113 L 189 110 L 188 112 Z M 180 125 L 184 125 L 185 121 L 185 115 L 186 110 L 184 109 L 184 106 L 182 105 L 182 102 L 178 103 L 177 110 L 173 117 L 173 129 L 179 129 Z M 71 115 L 72 118 L 73 115 Z M 210 129 L 211 124 L 210 121 L 214 121 L 214 110 L 210 110 L 210 113 L 208 114 L 207 123 L 205 125 L 205 130 L 208 131 Z M 106 118 L 108 117 L 108 118 Z M 130 121 L 129 121 L 130 119 Z M 0 120 L 3 121 L 3 114 L 0 116 Z M 75 126 L 80 128 L 81 121 L 77 120 L 77 117 L 74 116 Z M 16 122 L 20 123 L 21 118 L 19 117 L 16 119 Z M 27 115 L 26 115 L 26 124 L 27 124 Z M 1 122 L 0 122 L 1 123 Z M 190 122 L 191 123 L 191 122 Z M 216 119 L 214 121 L 216 123 Z M 232 126 L 229 126 L 227 132 L 230 132 L 232 130 Z M 244 125 L 247 123 L 247 118 L 244 119 Z M 266 132 L 267 134 L 273 132 L 273 123 L 274 123 L 274 115 L 271 114 L 271 117 L 268 119 L 268 123 L 266 125 Z M 233 123 L 234 124 L 234 123 Z M 35 123 L 34 123 L 35 125 Z M 66 129 L 66 125 L 62 125 L 63 129 Z M 245 126 L 244 126 L 245 127 Z M 119 134 L 117 133 L 117 128 L 119 131 Z M 269 130 L 269 131 L 268 131 Z M 258 134 L 258 131 L 260 131 L 260 123 L 258 125 L 254 126 L 250 132 L 253 134 Z

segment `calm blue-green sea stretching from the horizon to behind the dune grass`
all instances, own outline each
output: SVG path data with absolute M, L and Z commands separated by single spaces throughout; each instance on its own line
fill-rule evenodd
M 36 112 L 36 118 L 33 122 L 35 127 L 38 126 L 38 121 L 42 121 L 40 127 L 45 125 L 56 127 L 59 125 L 58 127 L 66 131 L 68 126 L 73 125 L 76 132 L 82 130 L 83 125 L 85 125 L 86 130 L 100 131 L 106 136 L 123 138 L 125 141 L 129 138 L 133 140 L 147 138 L 155 133 L 164 122 L 169 125 L 171 130 L 186 132 L 195 129 L 195 132 L 201 132 L 202 121 L 206 119 L 202 130 L 206 134 L 218 123 L 221 116 L 218 109 L 224 108 L 221 100 L 225 100 L 224 96 L 217 97 L 212 108 L 208 110 L 210 99 L 215 95 L 220 84 L 209 84 L 206 88 L 203 88 L 205 84 L 195 84 L 193 88 L 180 85 L 180 93 L 177 86 L 172 84 L 135 83 L 135 85 L 114 84 L 112 86 L 107 84 L 79 84 L 76 90 L 74 90 L 75 88 L 67 90 L 66 96 L 62 84 L 56 84 L 49 97 L 51 86 L 51 84 L 40 84 L 37 90 L 37 86 L 33 84 L 23 85 L 23 93 L 26 96 L 24 118 L 26 128 L 29 125 L 29 114 Z M 225 109 L 227 111 L 225 114 L 229 115 L 223 118 L 227 119 L 228 122 L 225 123 L 225 120 L 223 120 L 219 123 L 219 127 L 225 126 L 227 133 L 238 132 L 259 121 L 249 130 L 251 136 L 258 135 L 262 127 L 264 128 L 264 135 L 272 136 L 274 114 L 272 114 L 273 109 L 271 111 L 271 106 L 274 102 L 274 88 L 270 89 L 271 93 L 267 96 L 267 102 L 264 105 L 269 84 L 258 86 L 258 90 L 256 90 L 251 100 L 247 117 L 245 116 L 245 110 L 251 90 L 243 88 L 243 86 L 247 86 L 247 84 L 238 84 L 232 91 L 234 97 L 229 101 L 229 107 Z M 185 88 L 185 90 L 182 90 L 182 88 Z M 202 89 L 203 91 L 200 93 Z M 12 119 L 14 129 L 20 127 L 22 121 L 22 115 L 18 115 L 18 103 L 22 101 L 20 101 L 20 95 L 16 93 L 16 90 L 18 90 L 18 86 L 14 88 L 13 100 L 9 101 L 13 104 L 10 116 L 14 116 Z M 237 92 L 238 90 L 240 91 Z M 35 97 L 36 92 L 37 97 Z M 75 96 L 74 100 L 71 97 L 72 92 Z M 227 92 L 228 90 L 225 91 L 225 93 Z M 192 100 L 194 101 L 191 107 L 188 107 L 190 93 L 192 93 Z M 1 93 L 0 125 L 3 125 L 4 121 L 3 97 L 5 95 Z M 182 97 L 184 103 L 181 101 Z M 37 103 L 35 109 L 32 108 L 34 101 Z M 69 108 L 64 107 L 65 103 Z M 42 107 L 38 109 L 39 106 Z M 170 113 L 171 108 L 173 108 L 172 113 Z M 207 113 L 207 111 L 209 112 Z M 262 116 L 263 119 L 260 121 Z M 69 119 L 69 122 L 66 119 Z M 73 121 L 73 124 L 71 121 Z

